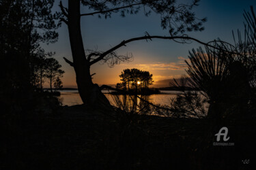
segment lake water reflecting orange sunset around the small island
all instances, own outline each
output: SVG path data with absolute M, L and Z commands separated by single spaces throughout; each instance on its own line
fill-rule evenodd
M 81 105 L 83 103 L 79 96 L 78 90 L 60 90 L 60 92 L 61 92 L 61 95 L 59 99 L 61 99 L 62 105 L 71 106 L 71 105 Z M 104 93 L 106 98 L 109 99 L 110 103 L 112 105 L 115 105 L 113 95 L 107 94 L 109 90 L 102 90 L 102 92 Z M 177 93 L 180 93 L 180 92 L 173 91 L 173 90 L 160 91 L 160 94 L 147 96 L 147 101 L 150 101 L 151 103 L 154 103 L 154 104 L 170 105 L 171 99 L 175 98 Z M 121 98 L 121 96 L 123 95 L 117 95 L 117 96 Z

